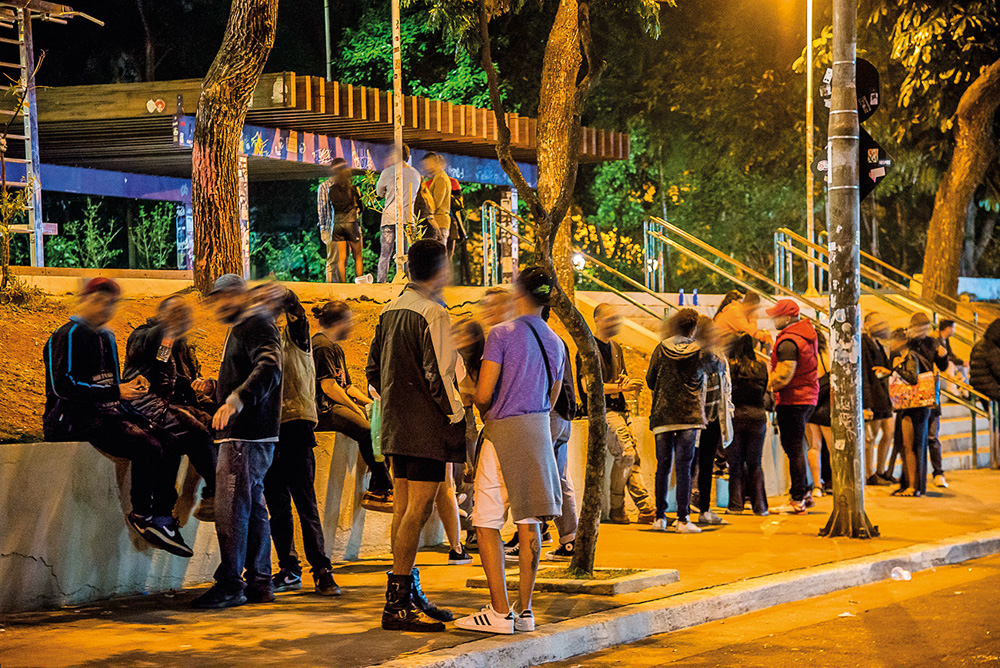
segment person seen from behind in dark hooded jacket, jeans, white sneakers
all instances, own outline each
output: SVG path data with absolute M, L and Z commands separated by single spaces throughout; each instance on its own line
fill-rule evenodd
M 656 520 L 654 531 L 667 530 L 670 467 L 676 462 L 677 531 L 701 533 L 690 519 L 691 462 L 698 432 L 705 428 L 707 360 L 694 340 L 698 312 L 681 309 L 668 323 L 672 333 L 653 351 L 646 384 L 653 391 L 649 428 L 656 439 Z

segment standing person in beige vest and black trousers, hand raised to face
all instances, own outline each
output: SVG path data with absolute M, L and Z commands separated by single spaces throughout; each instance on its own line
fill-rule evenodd
M 274 591 L 302 588 L 302 566 L 295 551 L 292 502 L 299 515 L 306 560 L 312 567 L 313 584 L 320 596 L 339 596 L 332 564 L 326 554 L 323 524 L 316 504 L 316 367 L 313 362 L 309 319 L 298 296 L 281 288 L 282 383 L 281 429 L 274 459 L 264 476 L 264 498 L 271 515 L 271 539 L 278 556 Z

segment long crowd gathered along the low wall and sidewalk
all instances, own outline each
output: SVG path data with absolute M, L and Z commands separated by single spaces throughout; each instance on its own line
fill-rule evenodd
M 773 340 L 758 327 L 763 306 L 752 292 L 729 293 L 714 318 L 680 309 L 664 321 L 644 380 L 630 375 L 616 341 L 621 314 L 600 304 L 594 336 L 601 378 L 587 376 L 579 355 L 574 378 L 570 348 L 547 324 L 558 289 L 548 271 L 522 270 L 510 290 L 487 291 L 479 318 L 454 323 L 442 298 L 450 280 L 444 243 L 415 242 L 408 274 L 410 282 L 378 318 L 361 383 L 352 379 L 340 345 L 352 335 L 350 306 L 331 301 L 314 308 L 318 331 L 312 332 L 293 292 L 277 283 L 248 288 L 232 274 L 219 278 L 208 297 L 228 328 L 217 378 L 203 377 L 187 342 L 192 309 L 180 296 L 165 299 L 156 316 L 131 333 L 119 374 L 106 325 L 121 291 L 110 279 L 92 279 L 76 314 L 44 349 L 46 439 L 89 441 L 131 460 L 128 524 L 154 547 L 182 557 L 193 553 L 173 513 L 178 467 L 188 455 L 205 483 L 194 516 L 215 522 L 221 561 L 214 586 L 193 605 L 224 608 L 302 588 L 293 504 L 316 592 L 340 594 L 317 508 L 313 448 L 317 430 L 347 435 L 370 472 L 362 506 L 392 513 L 393 563 L 381 624 L 401 631 L 442 631 L 449 621 L 490 633 L 534 629 L 532 594 L 550 524 L 559 542 L 546 558 L 568 561 L 575 549 L 570 424 L 595 401 L 588 389 L 601 384 L 613 460 L 607 522 L 682 534 L 726 524 L 712 506 L 719 476 L 729 480 L 725 513 L 749 508 L 768 515 L 761 461 L 772 412 L 788 457 L 786 512 L 806 514 L 829 492 L 829 353 L 795 301 L 782 299 L 766 310 L 777 330 Z M 931 328 L 921 313 L 906 329 L 891 329 L 877 312 L 864 319 L 867 482 L 898 482 L 894 494 L 900 496 L 926 491 L 928 453 L 934 483 L 947 487 L 938 399 L 917 390 L 935 370 L 969 375 L 952 352 L 954 323 L 942 320 L 936 336 Z M 973 349 L 971 380 L 1000 398 L 996 322 Z M 643 386 L 652 392 L 652 494 L 632 424 Z M 893 476 L 897 457 L 901 480 Z M 635 519 L 626 511 L 626 494 Z M 471 563 L 470 552 L 478 551 L 489 584 L 489 603 L 458 620 L 423 593 L 415 565 L 435 511 L 448 539 L 448 562 Z M 515 533 L 505 543 L 501 530 L 508 522 Z M 515 562 L 519 586 L 511 601 L 504 568 Z

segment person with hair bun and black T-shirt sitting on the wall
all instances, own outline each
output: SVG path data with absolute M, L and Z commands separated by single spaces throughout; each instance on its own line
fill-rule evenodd
M 316 362 L 316 404 L 319 407 L 318 431 L 338 431 L 358 442 L 358 452 L 371 479 L 361 506 L 380 513 L 392 512 L 392 479 L 385 461 L 376 461 L 372 448 L 371 424 L 365 408 L 372 400 L 351 382 L 347 360 L 340 341 L 354 329 L 354 313 L 345 302 L 333 301 L 313 308 L 313 315 L 323 331 L 313 336 L 313 359 Z

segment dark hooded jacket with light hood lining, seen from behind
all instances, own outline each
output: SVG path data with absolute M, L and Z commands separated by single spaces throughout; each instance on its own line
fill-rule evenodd
M 701 429 L 705 425 L 706 365 L 694 340 L 673 336 L 656 346 L 646 372 L 653 391 L 650 429 Z

